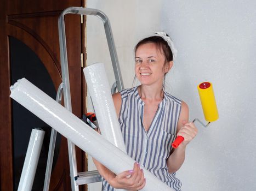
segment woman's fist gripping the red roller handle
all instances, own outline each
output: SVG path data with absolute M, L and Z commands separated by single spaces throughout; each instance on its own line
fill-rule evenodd
M 186 146 L 189 142 L 195 138 L 197 134 L 197 128 L 193 122 L 185 122 L 183 121 L 183 127 L 180 128 L 177 136 L 183 136 L 184 141 L 180 144 Z

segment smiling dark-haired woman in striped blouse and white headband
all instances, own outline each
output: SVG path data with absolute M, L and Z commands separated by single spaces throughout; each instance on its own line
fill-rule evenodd
M 143 166 L 174 190 L 181 190 L 175 177 L 185 159 L 187 144 L 197 128 L 188 122 L 185 102 L 164 91 L 164 77 L 173 66 L 175 49 L 164 32 L 157 32 L 135 46 L 135 75 L 141 85 L 113 94 L 127 153 L 136 160 L 134 168 L 115 175 L 94 159 L 104 178 L 104 190 L 140 190 L 145 186 Z M 177 149 L 171 144 L 176 136 L 184 141 Z

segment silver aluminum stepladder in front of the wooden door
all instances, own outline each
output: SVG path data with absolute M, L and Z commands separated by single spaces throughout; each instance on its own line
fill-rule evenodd
M 117 53 L 116 53 L 116 47 L 113 40 L 112 30 L 111 30 L 108 17 L 98 9 L 90 9 L 90 8 L 82 8 L 82 7 L 69 7 L 65 9 L 64 11 L 62 11 L 58 19 L 62 82 L 60 83 L 60 86 L 58 88 L 56 101 L 61 103 L 61 97 L 63 92 L 65 108 L 68 111 L 72 112 L 70 82 L 69 82 L 69 68 L 67 63 L 65 22 L 64 22 L 64 16 L 66 14 L 94 15 L 99 17 L 103 21 L 107 44 L 109 46 L 109 51 L 110 51 L 112 67 L 113 67 L 113 71 L 116 79 L 116 82 L 113 84 L 111 88 L 111 92 L 114 93 L 116 91 L 116 88 L 118 89 L 118 91 L 121 91 L 123 89 L 123 81 L 122 81 L 122 76 L 121 76 Z M 56 142 L 56 133 L 57 133 L 56 130 L 52 129 L 52 133 L 50 136 L 48 159 L 47 159 L 47 168 L 45 171 L 45 180 L 44 180 L 44 188 L 43 188 L 44 191 L 49 190 L 50 174 L 52 171 L 53 154 L 54 154 L 54 147 Z M 69 149 L 70 178 L 71 178 L 72 191 L 79 190 L 78 186 L 82 184 L 100 182 L 101 176 L 99 175 L 99 172 L 96 170 L 87 171 L 87 172 L 77 172 L 75 145 L 69 140 L 67 142 L 68 142 L 67 144 Z

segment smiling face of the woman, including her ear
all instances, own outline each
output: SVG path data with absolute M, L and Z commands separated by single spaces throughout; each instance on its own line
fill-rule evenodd
M 135 74 L 142 85 L 162 86 L 164 74 L 172 67 L 172 62 L 164 64 L 165 58 L 155 43 L 140 45 L 135 52 Z

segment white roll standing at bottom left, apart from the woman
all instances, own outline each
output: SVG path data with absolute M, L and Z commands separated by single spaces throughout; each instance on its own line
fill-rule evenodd
M 32 129 L 29 146 L 27 147 L 26 157 L 21 172 L 18 191 L 29 191 L 32 189 L 38 159 L 43 144 L 43 138 L 43 130 Z

